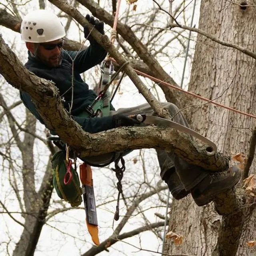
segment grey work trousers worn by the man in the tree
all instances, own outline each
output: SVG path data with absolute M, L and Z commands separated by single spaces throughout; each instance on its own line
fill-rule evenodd
M 168 110 L 170 115 L 173 117 L 172 121 L 182 124 L 188 127 L 188 123 L 184 116 L 179 112 L 179 109 L 176 105 L 170 102 L 160 102 L 161 105 Z M 155 115 L 154 110 L 151 106 L 146 103 L 132 108 L 119 108 L 116 111 L 110 111 L 110 115 L 114 114 L 148 114 Z M 206 175 L 207 172 L 204 172 L 199 168 L 194 168 L 192 164 L 188 164 L 181 158 L 178 158 L 172 152 L 165 152 L 164 150 L 156 150 L 158 156 L 158 162 L 160 165 L 160 176 L 163 179 L 168 172 L 168 179 L 179 180 L 186 190 L 190 190 L 196 184 L 198 184 Z M 117 157 L 117 156 L 116 156 Z M 86 161 L 89 163 L 98 163 L 104 164 L 109 162 L 113 158 L 113 154 L 104 154 L 101 156 L 91 156 L 86 158 Z M 92 164 L 92 165 L 93 165 Z M 193 170 L 193 171 L 192 171 Z M 177 179 L 178 176 L 178 179 Z M 164 179 L 166 181 L 166 179 Z M 167 182 L 167 181 L 166 181 Z M 176 184 L 178 185 L 178 184 Z

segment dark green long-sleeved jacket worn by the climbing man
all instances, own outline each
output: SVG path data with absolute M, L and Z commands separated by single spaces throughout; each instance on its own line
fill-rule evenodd
M 74 60 L 76 51 L 68 51 L 68 54 Z M 62 50 L 62 63 L 56 68 L 52 68 L 44 64 L 38 58 L 32 56 L 28 52 L 28 62 L 25 67 L 41 78 L 51 80 L 55 83 L 60 91 L 60 96 L 64 97 L 64 108 L 69 110 L 72 100 L 72 60 L 70 56 Z M 106 116 L 102 118 L 82 118 L 79 114 L 84 112 L 86 106 L 90 105 L 96 98 L 96 93 L 90 90 L 80 74 L 86 70 L 100 64 L 106 57 L 106 51 L 99 44 L 93 43 L 86 50 L 82 50 L 74 60 L 74 98 L 71 114 L 74 120 L 82 126 L 87 132 L 101 132 L 113 128 L 112 117 Z M 24 105 L 34 114 L 34 116 L 44 124 L 44 121 L 37 112 L 35 105 L 32 103 L 30 95 L 20 91 L 20 98 Z

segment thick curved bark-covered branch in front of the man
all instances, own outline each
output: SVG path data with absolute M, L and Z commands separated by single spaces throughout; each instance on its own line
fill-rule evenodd
M 109 43 L 106 36 L 102 38 Z M 113 46 L 106 48 L 113 51 L 111 47 Z M 120 60 L 117 59 L 117 61 Z M 129 72 L 126 73 L 130 75 Z M 170 128 L 150 126 L 118 128 L 98 134 L 84 132 L 63 108 L 54 84 L 26 70 L 17 56 L 4 43 L 2 37 L 0 37 L 0 73 L 12 86 L 31 95 L 46 126 L 55 130 L 60 138 L 80 152 L 82 157 L 126 148 L 160 148 L 166 151 L 174 150 L 178 156 L 187 159 L 188 162 L 210 170 L 225 170 L 228 167 L 227 157 L 220 153 L 208 156 L 206 145 L 197 145 L 190 140 L 188 135 Z M 137 78 L 132 79 L 137 83 Z

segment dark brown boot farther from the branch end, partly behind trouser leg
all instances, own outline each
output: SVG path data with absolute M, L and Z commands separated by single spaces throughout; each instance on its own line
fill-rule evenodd
M 174 167 L 167 170 L 162 179 L 168 185 L 168 188 L 175 199 L 182 199 L 190 193 L 190 191 L 185 190 Z

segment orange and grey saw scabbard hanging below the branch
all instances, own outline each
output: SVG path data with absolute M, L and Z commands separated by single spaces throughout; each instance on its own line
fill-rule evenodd
M 86 163 L 79 166 L 80 180 L 82 182 L 84 209 L 86 213 L 86 224 L 94 244 L 99 245 L 98 219 L 96 212 L 96 202 L 93 190 L 92 169 Z

